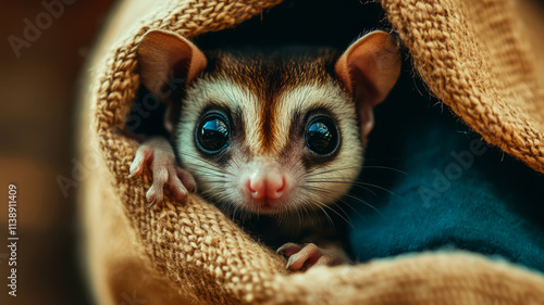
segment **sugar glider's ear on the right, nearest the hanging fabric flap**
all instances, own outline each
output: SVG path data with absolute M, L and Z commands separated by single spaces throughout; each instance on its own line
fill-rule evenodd
M 363 136 L 372 130 L 372 110 L 395 86 L 400 64 L 400 52 L 395 39 L 381 30 L 359 38 L 336 62 L 337 77 L 356 99 Z

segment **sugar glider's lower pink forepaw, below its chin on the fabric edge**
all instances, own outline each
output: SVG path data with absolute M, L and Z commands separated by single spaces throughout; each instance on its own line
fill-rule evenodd
M 277 253 L 288 257 L 287 269 L 293 271 L 306 271 L 313 266 L 337 266 L 343 263 L 343 258 L 326 253 L 314 243 L 299 245 L 286 243 L 277 249 Z

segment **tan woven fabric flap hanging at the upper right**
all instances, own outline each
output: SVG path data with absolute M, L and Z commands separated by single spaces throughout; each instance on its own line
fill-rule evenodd
M 429 89 L 484 140 L 544 173 L 544 97 L 514 1 L 383 1 Z

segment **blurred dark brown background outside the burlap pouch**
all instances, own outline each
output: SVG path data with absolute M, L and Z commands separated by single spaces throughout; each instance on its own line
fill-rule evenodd
M 58 18 L 18 51 L 20 58 L 9 37 L 24 39 L 25 18 L 36 24 L 36 16 L 47 12 L 42 3 L 62 2 L 1 4 L 0 304 L 91 304 L 77 262 L 77 188 L 65 195 L 58 178 L 73 178 L 77 77 L 113 1 L 64 1 L 73 3 L 63 5 Z M 533 29 L 534 48 L 544 50 L 542 5 L 535 0 L 518 3 Z M 540 63 L 544 72 L 544 60 Z M 10 183 L 17 186 L 16 297 L 7 289 Z

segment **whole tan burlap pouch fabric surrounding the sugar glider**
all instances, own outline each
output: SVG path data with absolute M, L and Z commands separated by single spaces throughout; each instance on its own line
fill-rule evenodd
M 285 262 L 191 195 L 147 207 L 128 179 L 138 143 L 122 130 L 152 28 L 191 38 L 281 2 L 124 1 L 83 81 L 81 192 L 86 265 L 99 304 L 544 304 L 544 277 L 465 253 L 429 253 L 288 275 Z M 386 17 L 429 90 L 491 144 L 544 173 L 544 97 L 512 1 L 391 0 Z M 90 87 L 89 87 L 90 86 Z M 90 126 L 90 128 L 88 128 Z

